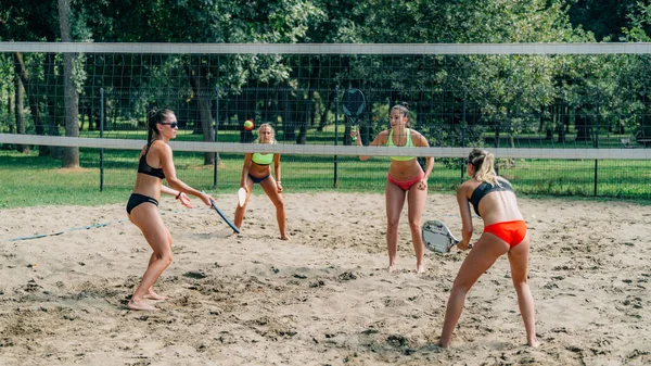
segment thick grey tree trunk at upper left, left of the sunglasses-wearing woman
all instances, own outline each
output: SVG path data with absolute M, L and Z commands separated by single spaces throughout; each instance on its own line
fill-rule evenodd
M 71 2 L 59 0 L 59 27 L 61 40 L 72 42 L 71 36 Z M 65 136 L 79 136 L 79 96 L 74 79 L 75 54 L 63 54 L 63 103 L 65 105 Z M 62 167 L 79 167 L 79 148 L 63 148 Z

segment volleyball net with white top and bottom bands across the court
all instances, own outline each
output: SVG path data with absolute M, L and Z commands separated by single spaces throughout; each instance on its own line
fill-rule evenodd
M 285 189 L 382 191 L 388 156 L 414 149 L 354 146 L 342 97 L 356 88 L 365 144 L 390 126 L 393 105 L 409 103 L 410 127 L 431 146 L 418 155 L 436 157 L 431 190 L 455 189 L 463 157 L 481 147 L 522 192 L 648 199 L 650 52 L 647 43 L 2 42 L 0 148 L 77 149 L 101 189 L 130 187 L 146 111 L 166 106 L 179 121 L 179 177 L 193 186 L 235 191 L 244 154 L 273 152 Z M 72 122 L 65 53 L 75 58 Z M 270 124 L 277 143 L 255 143 L 245 121 Z

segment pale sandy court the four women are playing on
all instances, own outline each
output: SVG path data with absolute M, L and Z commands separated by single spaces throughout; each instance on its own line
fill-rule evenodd
M 423 220 L 442 219 L 459 236 L 455 198 L 427 200 Z M 264 195 L 252 197 L 238 237 L 214 211 L 164 199 L 175 261 L 157 283 L 169 300 L 155 313 L 125 306 L 151 250 L 124 205 L 0 211 L 0 364 L 651 364 L 649 206 L 521 199 L 542 345 L 525 345 L 502 257 L 442 350 L 434 343 L 464 252 L 427 252 L 427 273 L 416 275 L 405 210 L 400 269 L 391 275 L 383 195 L 285 201 L 290 242 L 278 239 Z M 234 204 L 234 194 L 217 195 L 230 215 Z M 107 225 L 71 231 L 97 224 Z M 475 237 L 481 229 L 475 219 Z

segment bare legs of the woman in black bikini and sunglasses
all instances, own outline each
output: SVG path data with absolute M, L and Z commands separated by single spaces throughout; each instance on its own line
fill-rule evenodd
M 140 228 L 154 253 L 150 257 L 150 264 L 142 276 L 140 285 L 133 291 L 127 307 L 130 310 L 155 311 L 157 308 L 145 303 L 143 299 L 161 277 L 161 274 L 171 263 L 171 236 L 163 224 L 158 207 L 151 203 L 143 203 L 135 207 L 131 211 L 130 218 Z

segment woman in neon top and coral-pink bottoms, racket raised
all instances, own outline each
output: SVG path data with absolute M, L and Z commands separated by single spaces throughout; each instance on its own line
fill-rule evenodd
M 372 147 L 405 147 L 405 148 L 429 148 L 427 139 L 418 131 L 407 128 L 409 122 L 409 109 L 406 103 L 394 105 L 391 109 L 391 129 L 385 129 L 375 136 L 370 143 Z M 357 146 L 362 146 L 359 138 L 359 130 L 353 132 L 357 138 Z M 417 151 L 414 151 L 417 152 Z M 366 161 L 369 156 L 359 156 Z M 388 272 L 393 273 L 396 268 L 396 257 L 398 255 L 398 223 L 400 212 L 405 205 L 405 198 L 408 202 L 409 229 L 411 230 L 411 240 L 416 251 L 416 272 L 422 274 L 425 272 L 423 265 L 423 237 L 421 231 L 421 216 L 425 209 L 427 199 L 427 178 L 434 168 L 434 157 L 426 157 L 425 171 L 416 160 L 416 156 L 391 156 L 388 175 L 386 176 L 386 249 L 388 251 Z

